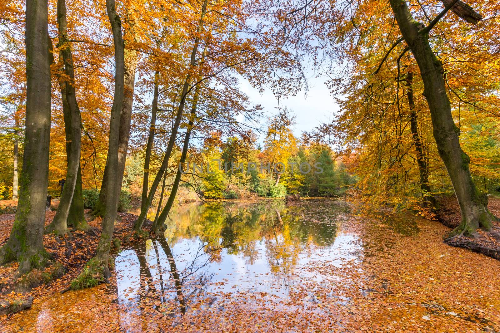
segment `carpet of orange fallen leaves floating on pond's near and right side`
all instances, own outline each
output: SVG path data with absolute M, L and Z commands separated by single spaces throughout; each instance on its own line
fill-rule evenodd
M 289 275 L 300 283 L 284 296 L 227 292 L 222 281 L 214 286 L 220 291 L 186 296 L 182 314 L 175 299 L 161 299 L 157 281 L 141 276 L 142 285 L 153 287 L 119 302 L 112 279 L 107 286 L 44 295 L 0 327 L 4 332 L 500 331 L 500 262 L 447 246 L 441 237 L 448 229 L 438 222 L 339 216 L 330 203 L 293 205 L 303 221 L 324 221 L 335 213 L 338 232 L 355 235 L 362 251 L 334 264 L 297 263 Z M 199 285 L 186 280 L 182 289 L 189 295 Z

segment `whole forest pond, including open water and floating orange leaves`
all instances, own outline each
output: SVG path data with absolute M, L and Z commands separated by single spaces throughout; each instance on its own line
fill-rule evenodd
M 337 200 L 182 205 L 164 237 L 122 247 L 111 284 L 41 299 L 9 326 L 498 332 L 498 261 L 444 245 L 446 230 L 414 217 L 357 216 Z

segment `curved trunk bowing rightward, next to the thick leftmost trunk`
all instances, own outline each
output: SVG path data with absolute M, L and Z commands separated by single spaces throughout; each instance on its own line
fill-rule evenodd
M 67 170 L 66 182 L 64 184 L 64 189 L 62 190 L 57 212 L 55 213 L 52 222 L 45 228 L 45 232 L 53 232 L 56 235 L 63 236 L 69 233 L 67 229 L 67 218 L 73 199 L 78 169 L 80 167 L 81 146 L 81 117 L 74 89 L 73 58 L 71 55 L 69 40 L 67 38 L 65 0 L 57 0 L 57 25 L 59 32 L 59 42 L 57 46 L 60 50 L 60 54 L 62 55 L 65 76 L 69 80 L 60 82 L 61 95 L 63 99 L 62 109 L 66 130 Z M 62 86 L 64 86 L 64 89 L 62 89 Z M 66 99 L 66 103 L 64 103 L 64 99 Z

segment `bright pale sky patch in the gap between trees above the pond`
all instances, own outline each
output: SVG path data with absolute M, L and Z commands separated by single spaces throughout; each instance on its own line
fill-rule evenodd
M 304 91 L 297 92 L 295 96 L 290 96 L 279 101 L 281 107 L 287 107 L 295 115 L 295 125 L 293 134 L 300 138 L 302 131 L 310 131 L 322 122 L 329 122 L 333 119 L 334 113 L 339 108 L 335 104 L 329 89 L 325 84 L 326 77 L 308 77 L 309 89 L 307 94 Z M 262 94 L 244 79 L 239 80 L 239 88 L 246 93 L 253 104 L 260 104 L 263 107 L 265 117 L 269 117 L 277 112 L 278 100 L 270 90 Z M 265 128 L 265 119 L 260 122 Z

